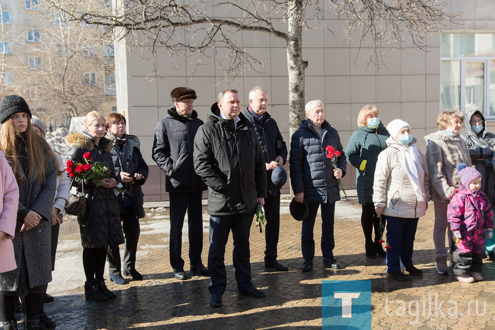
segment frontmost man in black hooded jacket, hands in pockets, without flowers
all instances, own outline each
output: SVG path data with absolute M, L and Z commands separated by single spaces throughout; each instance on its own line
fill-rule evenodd
M 251 283 L 249 229 L 266 197 L 266 167 L 256 133 L 247 125 L 235 89 L 218 96 L 194 140 L 194 167 L 208 186 L 210 305 L 222 306 L 227 285 L 225 245 L 232 230 L 234 273 L 241 295 L 264 298 Z

